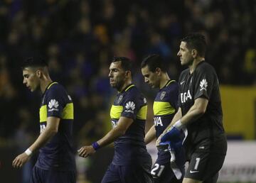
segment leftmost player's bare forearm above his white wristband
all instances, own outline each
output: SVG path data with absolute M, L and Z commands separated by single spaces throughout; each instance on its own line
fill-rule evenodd
M 57 131 L 55 129 L 46 128 L 28 149 L 35 152 L 39 148 L 42 148 L 56 133 Z

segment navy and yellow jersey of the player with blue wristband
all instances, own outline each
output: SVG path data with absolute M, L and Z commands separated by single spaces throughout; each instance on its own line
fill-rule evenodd
M 112 128 L 117 126 L 121 116 L 133 119 L 125 134 L 114 141 L 114 165 L 151 163 L 144 143 L 146 111 L 146 99 L 134 84 L 127 86 L 114 99 L 110 110 Z

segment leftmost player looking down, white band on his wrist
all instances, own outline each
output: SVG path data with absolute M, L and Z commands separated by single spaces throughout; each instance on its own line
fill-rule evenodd
M 73 101 L 62 85 L 50 79 L 43 59 L 29 57 L 22 69 L 23 84 L 32 92 L 41 90 L 43 94 L 39 111 L 41 131 L 36 141 L 14 159 L 13 167 L 22 167 L 40 149 L 31 183 L 75 183 Z

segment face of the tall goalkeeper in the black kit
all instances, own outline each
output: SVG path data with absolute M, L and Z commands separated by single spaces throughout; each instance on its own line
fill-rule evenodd
M 181 41 L 180 49 L 177 53 L 178 57 L 180 57 L 181 65 L 191 65 L 193 62 L 193 55 L 191 50 L 188 50 L 186 46 L 186 42 Z

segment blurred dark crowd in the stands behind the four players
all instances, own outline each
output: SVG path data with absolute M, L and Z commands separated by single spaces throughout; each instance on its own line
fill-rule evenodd
M 75 144 L 106 132 L 112 96 L 108 72 L 113 56 L 134 62 L 134 83 L 144 84 L 140 62 L 158 53 L 171 79 L 181 70 L 176 53 L 187 33 L 206 35 L 206 61 L 220 84 L 256 84 L 256 3 L 250 0 L 1 0 L 0 145 L 28 147 L 39 133 L 41 94 L 22 84 L 21 62 L 48 61 L 75 105 Z M 11 143 L 10 143 L 11 142 Z

